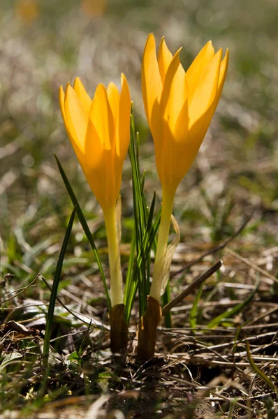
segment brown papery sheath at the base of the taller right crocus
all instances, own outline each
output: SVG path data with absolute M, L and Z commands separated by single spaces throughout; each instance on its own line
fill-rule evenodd
M 161 307 L 154 297 L 148 297 L 147 310 L 138 323 L 137 360 L 147 361 L 154 356 L 156 329 L 161 320 Z

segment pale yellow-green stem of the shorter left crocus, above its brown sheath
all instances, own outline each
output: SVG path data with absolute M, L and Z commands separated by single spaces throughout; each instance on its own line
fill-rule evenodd
M 108 240 L 108 257 L 110 266 L 110 295 L 111 306 L 123 304 L 124 295 L 122 291 L 123 281 L 121 272 L 121 256 L 117 237 L 116 207 L 110 207 L 104 212 L 106 235 Z

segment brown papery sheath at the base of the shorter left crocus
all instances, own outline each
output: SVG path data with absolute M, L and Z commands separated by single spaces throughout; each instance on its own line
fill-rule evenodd
M 129 328 L 124 320 L 124 304 L 116 304 L 110 311 L 110 340 L 112 353 L 126 350 Z

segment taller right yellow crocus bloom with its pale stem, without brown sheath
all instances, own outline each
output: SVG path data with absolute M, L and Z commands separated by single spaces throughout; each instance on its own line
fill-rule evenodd
M 228 50 L 214 52 L 208 42 L 185 72 L 180 50 L 172 55 L 164 38 L 156 57 L 154 35 L 142 58 L 142 96 L 154 139 L 156 168 L 162 185 L 162 212 L 150 296 L 160 301 L 171 212 L 177 186 L 189 170 L 210 125 L 228 69 Z

